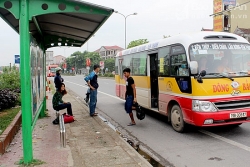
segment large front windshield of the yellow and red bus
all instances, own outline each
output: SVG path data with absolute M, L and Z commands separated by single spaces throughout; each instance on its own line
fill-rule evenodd
M 190 45 L 191 61 L 198 62 L 199 72 L 206 76 L 249 76 L 250 45 L 243 43 L 196 43 Z M 220 74 L 220 75 L 218 75 Z

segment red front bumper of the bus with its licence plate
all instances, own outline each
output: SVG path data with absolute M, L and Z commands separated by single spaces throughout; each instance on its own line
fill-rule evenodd
M 241 117 L 230 118 L 230 115 L 232 114 L 241 115 Z M 250 122 L 250 109 L 242 109 L 235 111 L 218 111 L 211 113 L 193 111 L 193 124 L 195 126 L 222 126 L 245 122 Z

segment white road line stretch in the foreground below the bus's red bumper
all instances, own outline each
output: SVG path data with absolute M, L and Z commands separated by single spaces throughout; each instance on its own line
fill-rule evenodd
M 211 137 L 213 137 L 213 138 L 216 138 L 216 139 L 218 139 L 218 140 L 224 141 L 224 142 L 226 142 L 226 143 L 228 143 L 228 144 L 231 144 L 231 145 L 233 145 L 233 146 L 235 146 L 235 147 L 238 147 L 238 148 L 241 148 L 241 149 L 243 149 L 243 150 L 246 150 L 246 151 L 249 151 L 249 152 L 250 152 L 250 147 L 248 147 L 248 146 L 246 146 L 246 145 L 244 145 L 244 144 L 238 143 L 238 142 L 236 142 L 236 141 L 227 139 L 227 138 L 225 138 L 225 137 L 219 136 L 219 135 L 217 135 L 217 134 L 214 134 L 214 133 L 211 133 L 211 132 L 208 132 L 208 131 L 205 131 L 205 130 L 199 130 L 199 131 L 200 131 L 201 133 L 203 133 L 203 134 L 206 134 L 206 135 L 208 135 L 208 136 L 211 136 Z

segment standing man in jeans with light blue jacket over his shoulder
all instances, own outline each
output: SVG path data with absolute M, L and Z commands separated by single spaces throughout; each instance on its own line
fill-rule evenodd
M 97 82 L 97 74 L 100 71 L 100 66 L 98 64 L 94 65 L 94 70 L 84 78 L 88 83 L 90 88 L 90 102 L 89 102 L 89 114 L 91 117 L 97 116 L 98 113 L 95 112 L 96 102 L 97 102 L 97 89 L 99 84 Z

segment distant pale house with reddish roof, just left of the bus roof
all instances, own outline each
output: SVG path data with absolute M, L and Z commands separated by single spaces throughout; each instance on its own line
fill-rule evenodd
M 114 58 L 115 55 L 119 52 L 122 51 L 123 48 L 119 46 L 102 46 L 100 49 L 96 50 L 95 52 L 98 52 L 100 57 L 103 59 L 110 59 Z

